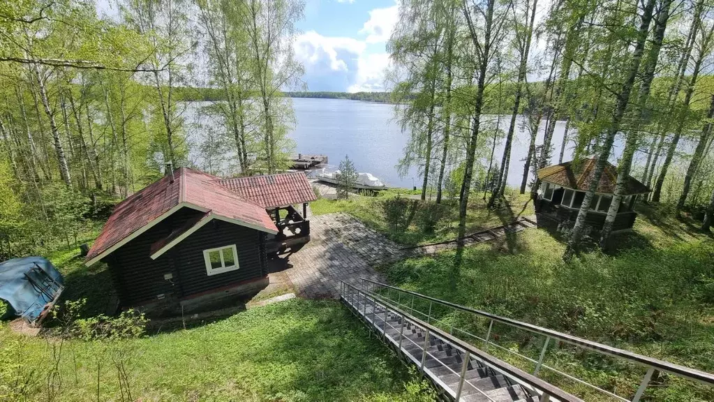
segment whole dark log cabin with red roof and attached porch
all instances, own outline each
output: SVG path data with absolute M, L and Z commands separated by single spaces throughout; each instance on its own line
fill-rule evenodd
M 221 179 L 167 166 L 115 206 L 85 263 L 107 264 L 123 308 L 254 293 L 268 284 L 271 258 L 310 240 L 306 206 L 315 199 L 302 172 Z

